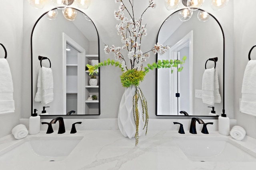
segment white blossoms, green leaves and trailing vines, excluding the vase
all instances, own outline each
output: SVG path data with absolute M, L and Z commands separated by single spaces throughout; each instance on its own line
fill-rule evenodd
M 142 37 L 147 35 L 146 24 L 142 24 L 142 16 L 149 8 L 155 8 L 156 4 L 153 0 L 149 0 L 149 4 L 144 12 L 141 14 L 139 18 L 134 17 L 134 2 L 133 0 L 127 0 L 127 4 L 131 7 L 131 12 L 126 8 L 126 4 L 124 4 L 124 0 L 115 0 L 115 2 L 120 2 L 119 9 L 114 11 L 114 17 L 116 20 L 120 21 L 116 25 L 117 34 L 121 36 L 121 41 L 124 44 L 122 47 L 115 47 L 114 45 L 109 46 L 105 44 L 104 51 L 106 54 L 112 52 L 114 53 L 115 60 L 107 59 L 106 61 L 100 62 L 94 66 L 87 64 L 88 71 L 90 72 L 89 75 L 92 75 L 100 66 L 106 65 L 114 65 L 119 66 L 122 70 L 122 75 L 120 76 L 122 86 L 130 87 L 132 85 L 136 86 L 136 91 L 133 97 L 133 114 L 134 114 L 134 121 L 136 124 L 136 145 L 138 144 L 138 100 L 142 101 L 142 111 L 143 111 L 143 119 L 145 124 L 144 128 L 146 127 L 147 133 L 147 126 L 148 126 L 148 108 L 147 102 L 142 94 L 142 91 L 138 87 L 139 83 L 143 80 L 146 73 L 149 70 L 153 70 L 154 68 L 171 68 L 178 67 L 178 71 L 182 70 L 182 63 L 186 60 L 186 57 L 180 60 L 158 60 L 157 63 L 147 64 L 144 66 L 143 63 L 150 57 L 150 51 L 154 54 L 158 53 L 159 55 L 163 55 L 170 49 L 169 46 L 160 45 L 156 43 L 152 49 L 143 53 L 141 51 L 141 43 Z M 125 17 L 124 11 L 128 13 L 129 18 Z M 122 55 L 121 50 L 126 51 L 128 59 L 125 59 L 124 55 Z M 128 63 L 126 63 L 126 60 Z M 130 66 L 127 66 L 130 64 Z

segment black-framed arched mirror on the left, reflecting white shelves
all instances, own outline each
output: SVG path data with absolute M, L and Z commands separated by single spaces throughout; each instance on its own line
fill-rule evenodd
M 32 111 L 41 116 L 100 114 L 100 70 L 96 77 L 86 71 L 100 60 L 98 31 L 86 14 L 70 9 L 74 21 L 55 8 L 56 18 L 46 12 L 32 30 Z

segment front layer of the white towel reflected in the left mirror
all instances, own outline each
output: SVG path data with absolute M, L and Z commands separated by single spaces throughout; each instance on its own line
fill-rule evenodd
M 53 101 L 53 76 L 52 69 L 42 66 L 42 103 L 48 104 Z

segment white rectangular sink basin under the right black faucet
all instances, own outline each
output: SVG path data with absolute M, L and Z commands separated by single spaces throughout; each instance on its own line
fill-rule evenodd
M 173 137 L 188 159 L 200 162 L 255 162 L 256 155 L 225 137 Z M 233 144 L 235 145 L 233 145 Z M 254 154 L 254 155 L 253 155 Z

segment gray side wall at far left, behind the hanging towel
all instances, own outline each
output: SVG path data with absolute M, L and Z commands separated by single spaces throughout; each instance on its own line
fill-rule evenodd
M 19 124 L 22 100 L 22 13 L 23 2 L 20 0 L 0 0 L 0 43 L 7 50 L 7 61 L 10 65 L 14 86 L 15 112 L 0 114 L 0 137 L 8 135 L 14 126 Z M 0 47 L 0 57 L 4 50 Z M 30 73 L 28 72 L 28 78 Z M 26 106 L 25 106 L 26 107 Z

